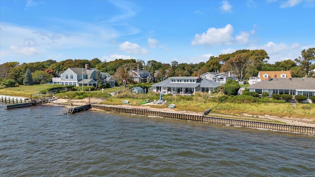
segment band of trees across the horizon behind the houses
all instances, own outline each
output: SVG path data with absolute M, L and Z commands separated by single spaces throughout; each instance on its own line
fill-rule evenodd
M 58 77 L 69 67 L 96 68 L 101 72 L 107 72 L 118 82 L 128 80 L 128 71 L 144 69 L 157 78 L 157 82 L 172 76 L 198 76 L 206 72 L 231 72 L 238 79 L 249 79 L 257 76 L 258 71 L 291 70 L 292 77 L 314 77 L 315 73 L 315 48 L 301 51 L 301 57 L 294 60 L 268 63 L 269 56 L 264 50 L 238 50 L 231 54 L 221 54 L 218 57 L 210 57 L 206 62 L 178 63 L 172 61 L 162 63 L 156 60 L 145 62 L 141 59 L 115 59 L 113 61 L 101 61 L 100 59 L 66 59 L 60 62 L 46 60 L 41 62 L 22 63 L 6 62 L 0 65 L 0 83 L 8 86 L 21 85 L 29 72 L 32 74 L 34 84 L 51 82 L 53 77 Z M 27 72 L 27 70 L 29 70 Z M 129 80 L 131 82 L 131 80 Z M 12 84 L 13 83 L 13 84 Z

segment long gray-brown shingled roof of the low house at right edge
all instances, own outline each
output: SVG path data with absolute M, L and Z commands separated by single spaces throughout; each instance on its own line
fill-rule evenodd
M 306 89 L 315 90 L 314 78 L 274 78 L 263 80 L 248 87 L 248 89 Z

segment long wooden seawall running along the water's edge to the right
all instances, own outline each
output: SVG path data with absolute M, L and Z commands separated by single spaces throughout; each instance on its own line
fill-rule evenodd
M 104 111 L 114 111 L 121 113 L 129 114 L 138 114 L 138 115 L 152 115 L 165 118 L 179 118 L 192 121 L 201 121 L 217 124 L 229 124 L 234 126 L 243 126 L 251 128 L 264 128 L 277 131 L 287 131 L 287 132 L 297 132 L 297 133 L 307 133 L 315 134 L 315 127 L 307 126 L 297 126 L 297 125 L 287 125 L 282 123 L 271 123 L 271 122 L 261 122 L 261 121 L 252 121 L 252 120 L 241 120 L 241 119 L 232 119 L 232 118 L 217 118 L 203 115 L 192 115 L 192 114 L 183 114 L 183 113 L 173 113 L 173 112 L 162 112 L 162 111 L 153 111 L 140 108 L 122 108 L 115 106 L 107 105 L 92 105 L 92 108 Z

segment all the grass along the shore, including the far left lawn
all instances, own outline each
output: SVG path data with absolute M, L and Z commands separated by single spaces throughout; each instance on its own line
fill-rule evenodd
M 30 97 L 30 94 L 38 94 L 40 90 L 56 87 L 57 85 L 34 85 L 34 86 L 19 86 L 14 88 L 0 89 L 0 94 L 24 96 Z M 109 96 L 107 93 L 122 91 L 121 94 L 116 96 Z M 79 91 L 80 92 L 80 91 Z M 102 97 L 105 98 L 102 104 L 121 105 L 124 100 L 129 100 L 131 104 L 139 103 L 149 99 L 150 101 L 158 100 L 159 94 L 147 93 L 147 94 L 130 94 L 129 90 L 124 90 L 121 87 L 104 89 L 104 93 L 101 90 L 86 91 L 82 94 L 78 94 L 78 91 L 68 91 L 65 93 L 56 94 L 60 98 L 74 98 L 82 99 L 87 96 Z M 219 95 L 218 95 L 219 96 Z M 204 112 L 209 108 L 213 108 L 211 113 L 223 114 L 223 115 L 257 115 L 257 116 L 277 116 L 277 117 L 291 117 L 291 118 L 310 118 L 315 121 L 315 104 L 296 103 L 296 108 L 292 107 L 290 103 L 226 103 L 213 101 L 207 94 L 196 94 L 192 96 L 182 95 L 163 95 L 163 100 L 168 100 L 164 105 L 151 105 L 155 108 L 167 108 L 169 104 L 176 104 L 175 110 L 186 110 L 192 112 Z

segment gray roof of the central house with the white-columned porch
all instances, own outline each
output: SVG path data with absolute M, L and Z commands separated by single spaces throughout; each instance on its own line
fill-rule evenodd
M 217 88 L 220 87 L 221 84 L 210 81 L 208 79 L 200 78 L 200 81 L 197 83 L 171 83 L 171 79 L 197 79 L 198 77 L 170 77 L 162 82 L 152 85 L 153 87 L 182 87 L 182 88 Z

